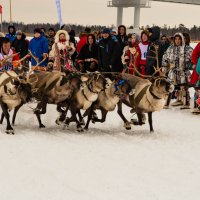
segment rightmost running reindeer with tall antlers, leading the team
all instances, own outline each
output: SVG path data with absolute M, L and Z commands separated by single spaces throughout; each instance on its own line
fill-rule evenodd
M 158 64 L 158 49 L 156 46 L 155 55 Z M 136 56 L 138 55 L 136 54 Z M 143 113 L 148 113 L 150 132 L 153 132 L 152 113 L 164 108 L 166 99 L 174 90 L 174 85 L 171 84 L 159 67 L 155 68 L 155 72 L 152 76 L 142 75 L 134 64 L 133 68 L 142 78 L 132 75 L 123 75 L 124 78 L 127 78 L 131 88 L 135 90 L 134 95 L 129 96 L 129 105 L 135 109 L 137 113 L 138 125 L 143 124 Z

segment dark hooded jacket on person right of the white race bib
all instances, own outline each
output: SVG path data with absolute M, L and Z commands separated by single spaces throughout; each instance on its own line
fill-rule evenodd
M 160 28 L 155 26 L 151 28 L 152 35 L 149 37 L 149 47 L 147 50 L 147 65 L 146 65 L 146 74 L 152 75 L 155 70 L 154 67 L 157 67 L 157 61 L 155 53 L 152 51 L 155 51 L 154 46 L 158 46 L 158 61 L 159 61 L 159 67 L 162 65 L 162 57 L 164 55 L 164 46 L 162 42 L 160 41 Z

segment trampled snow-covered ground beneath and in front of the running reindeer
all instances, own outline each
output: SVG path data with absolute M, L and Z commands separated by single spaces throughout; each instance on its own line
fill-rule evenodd
M 56 117 L 48 106 L 39 130 L 24 106 L 16 135 L 0 127 L 0 200 L 200 199 L 200 116 L 155 113 L 153 134 L 148 125 L 125 130 L 116 112 L 84 133 L 62 130 Z

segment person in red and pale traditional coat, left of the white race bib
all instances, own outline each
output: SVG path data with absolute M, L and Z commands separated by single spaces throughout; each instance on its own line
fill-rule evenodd
M 141 52 L 139 49 L 139 36 L 136 33 L 128 35 L 128 45 L 124 48 L 122 63 L 125 65 L 124 72 L 137 75 L 133 67 L 139 68 Z M 128 68 L 127 68 L 128 67 Z

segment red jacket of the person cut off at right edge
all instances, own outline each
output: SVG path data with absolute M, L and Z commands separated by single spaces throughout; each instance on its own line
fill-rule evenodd
M 200 43 L 194 48 L 192 52 L 192 63 L 197 65 L 198 59 L 200 58 Z M 198 81 L 199 75 L 196 72 L 196 67 L 193 69 L 192 76 L 191 76 L 191 84 L 196 85 Z

